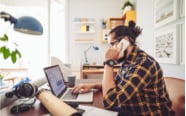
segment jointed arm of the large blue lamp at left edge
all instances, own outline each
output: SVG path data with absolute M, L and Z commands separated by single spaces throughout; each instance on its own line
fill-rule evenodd
M 5 21 L 10 21 L 11 24 L 15 24 L 17 22 L 16 18 L 6 12 L 0 12 L 0 18 L 3 18 Z

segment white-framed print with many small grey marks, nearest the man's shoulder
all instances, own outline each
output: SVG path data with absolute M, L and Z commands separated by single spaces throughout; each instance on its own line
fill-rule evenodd
M 177 28 L 159 31 L 154 35 L 154 57 L 160 63 L 177 64 Z

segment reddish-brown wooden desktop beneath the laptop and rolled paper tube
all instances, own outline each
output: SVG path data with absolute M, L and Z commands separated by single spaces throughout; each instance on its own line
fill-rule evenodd
M 102 101 L 103 101 L 102 92 L 98 91 L 94 93 L 92 104 L 82 104 L 82 105 L 96 106 L 98 108 L 103 108 Z M 47 109 L 40 103 L 39 100 L 36 101 L 34 107 L 30 108 L 29 111 L 22 112 L 22 113 L 11 114 L 10 109 L 12 106 L 13 105 L 10 105 L 1 109 L 0 114 L 2 116 L 43 116 L 49 113 Z

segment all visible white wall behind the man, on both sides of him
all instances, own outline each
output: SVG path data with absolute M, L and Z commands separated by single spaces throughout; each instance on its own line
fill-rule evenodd
M 84 62 L 83 51 L 91 44 L 76 44 L 73 42 L 75 35 L 72 33 L 73 19 L 76 17 L 95 18 L 96 24 L 96 41 L 100 51 L 89 51 L 89 61 L 96 61 L 101 64 L 104 59 L 107 44 L 99 42 L 100 37 L 100 20 L 110 16 L 120 17 L 123 0 L 70 0 L 69 1 L 69 62 L 72 63 L 74 71 L 80 71 L 80 65 Z M 142 35 L 139 36 L 139 46 L 147 53 L 153 56 L 153 0 L 136 0 L 137 24 L 143 28 Z M 149 49 L 150 48 L 150 49 Z M 185 65 L 160 64 L 165 76 L 174 76 L 185 78 Z

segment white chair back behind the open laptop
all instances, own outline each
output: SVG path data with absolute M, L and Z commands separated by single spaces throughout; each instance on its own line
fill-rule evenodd
M 51 65 L 56 65 L 56 64 L 59 65 L 63 73 L 64 79 L 65 81 L 67 81 L 67 76 L 72 74 L 70 66 L 65 65 L 59 58 L 51 56 Z

